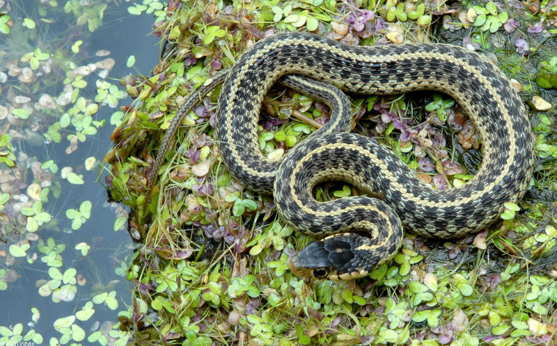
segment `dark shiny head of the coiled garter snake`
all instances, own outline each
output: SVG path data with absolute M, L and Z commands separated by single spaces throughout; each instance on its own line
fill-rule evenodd
M 299 277 L 317 279 L 355 279 L 368 274 L 358 265 L 354 233 L 343 233 L 309 243 L 290 258 L 290 270 Z

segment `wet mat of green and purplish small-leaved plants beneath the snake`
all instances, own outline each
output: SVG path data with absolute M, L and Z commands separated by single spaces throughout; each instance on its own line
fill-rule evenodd
M 149 1 L 142 6 L 136 10 L 148 10 Z M 130 208 L 127 227 L 137 242 L 127 271 L 134 299 L 120 330 L 138 344 L 554 345 L 556 14 L 555 0 L 171 0 L 153 26 L 162 59 L 152 76 L 123 79 L 136 101 L 113 119 L 105 157 L 111 198 Z M 393 260 L 363 279 L 296 277 L 288 258 L 311 238 L 282 222 L 271 196 L 246 190 L 227 172 L 214 138 L 219 89 L 186 115 L 164 165 L 151 170 L 185 97 L 254 42 L 285 31 L 361 45 L 445 42 L 492 59 L 528 107 L 535 135 L 526 197 L 464 239 L 407 233 Z M 478 171 L 476 129 L 447 95 L 350 97 L 354 132 L 391 148 L 423 183 L 457 188 Z M 330 113 L 281 86 L 262 109 L 259 147 L 277 159 Z M 150 179 L 158 183 L 146 205 Z M 357 194 L 325 183 L 316 198 Z

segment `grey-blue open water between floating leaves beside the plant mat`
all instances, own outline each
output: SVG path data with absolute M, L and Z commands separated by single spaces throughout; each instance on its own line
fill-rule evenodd
M 58 6 L 47 6 L 47 4 L 40 4 L 37 1 L 17 1 L 0 8 L 0 13 L 8 13 L 13 21 L 11 32 L 7 35 L 0 34 L 0 51 L 3 51 L 3 56 L 0 56 L 0 70 L 5 75 L 8 74 L 6 66 L 9 65 L 10 59 L 19 60 L 19 67 L 29 66 L 29 63 L 22 63 L 21 58 L 25 53 L 33 51 L 35 47 L 40 47 L 41 51 L 49 53 L 50 58 L 56 61 L 56 63 L 52 63 L 52 72 L 49 74 L 43 72 L 42 76 L 38 76 L 36 81 L 31 83 L 21 83 L 17 77 L 8 76 L 7 81 L 0 83 L 0 106 L 4 106 L 8 110 L 20 106 L 14 102 L 14 97 L 18 95 L 31 98 L 31 104 L 36 103 L 41 94 L 46 93 L 59 97 L 63 90 L 63 81 L 67 76 L 63 68 L 72 63 L 79 66 L 95 63 L 104 58 L 113 58 L 116 64 L 104 80 L 118 85 L 120 90 L 123 87 L 118 84 L 118 79 L 125 74 L 149 76 L 150 68 L 157 63 L 159 54 L 159 38 L 149 35 L 153 23 L 152 15 L 130 15 L 127 12 L 127 3 L 120 3 L 120 6 L 117 6 L 113 2 L 109 2 L 107 3 L 108 8 L 104 10 L 102 26 L 93 33 L 89 33 L 87 25 L 76 26 L 77 17 L 75 15 L 63 13 L 64 5 L 63 2 L 58 3 Z M 89 7 L 82 7 L 81 10 L 86 13 L 86 10 L 91 8 L 93 8 L 93 4 Z M 33 29 L 22 27 L 21 23 L 25 21 L 25 18 L 33 19 L 36 27 Z M 52 23 L 46 23 L 41 18 L 52 21 Z M 71 46 L 78 40 L 82 40 L 83 43 L 79 47 L 79 52 L 74 54 Z M 104 57 L 95 56 L 95 52 L 100 49 L 110 51 L 110 54 Z M 126 66 L 130 55 L 136 57 L 133 68 Z M 65 65 L 58 65 L 59 61 L 64 61 Z M 40 69 L 33 70 L 34 75 L 37 76 L 39 71 Z M 80 90 L 79 96 L 85 97 L 88 103 L 93 101 L 92 99 L 97 94 L 95 82 L 97 79 L 101 79 L 96 75 L 99 71 L 100 69 L 97 69 L 93 74 L 84 77 L 87 86 Z M 118 106 L 125 106 L 131 102 L 132 99 L 126 97 L 118 100 Z M 97 104 L 100 103 L 97 102 Z M 5 164 L 0 164 L 2 175 L 15 177 L 15 172 L 20 173 L 17 175 L 18 179 L 3 182 L 1 186 L 2 192 L 12 189 L 17 193 L 8 191 L 10 199 L 6 203 L 6 208 L 0 211 L 0 215 L 2 215 L 1 213 L 6 214 L 6 217 L 1 219 L 3 229 L 0 235 L 3 240 L 6 240 L 6 243 L 0 243 L 0 270 L 6 271 L 3 280 L 7 281 L 6 290 L 0 290 L 0 306 L 3 308 L 3 313 L 0 315 L 0 326 L 8 329 L 16 326 L 16 331 L 19 331 L 17 324 L 20 323 L 23 325 L 22 336 L 25 336 L 29 330 L 35 329 L 36 333 L 42 335 L 44 343 L 48 343 L 53 336 L 56 338 L 62 336 L 59 331 L 54 329 L 55 320 L 77 313 L 98 293 L 116 290 L 118 308 L 112 311 L 104 304 L 94 304 L 95 313 L 90 319 L 75 320 L 74 324 L 84 329 L 86 336 L 89 336 L 92 331 L 96 330 L 95 327 L 99 328 L 98 326 L 106 321 L 116 322 L 118 311 L 125 311 L 126 306 L 132 302 L 132 283 L 125 277 L 118 276 L 115 270 L 120 265 L 127 267 L 127 264 L 123 263 L 129 263 L 133 244 L 125 230 L 113 231 L 116 209 L 106 203 L 107 191 L 97 181 L 98 163 L 111 146 L 110 134 L 113 126 L 110 124 L 110 117 L 118 108 L 113 109 L 100 105 L 98 112 L 93 115 L 93 120 L 105 120 L 106 124 L 98 128 L 96 134 L 86 135 L 85 142 L 79 142 L 77 150 L 67 154 L 66 148 L 70 144 L 67 137 L 76 132 L 71 125 L 66 128 L 68 131 L 63 129 L 59 131 L 62 136 L 60 143 L 48 140 L 45 142 L 43 133 L 47 133 L 48 127 L 58 122 L 61 114 L 68 112 L 71 107 L 72 103 L 58 107 L 58 110 L 50 112 L 52 114 L 33 111 L 29 119 L 22 121 L 22 126 L 10 124 L 5 116 L 0 120 L 0 135 L 4 133 L 13 135 L 14 154 L 18 158 L 16 167 L 12 170 L 8 170 Z M 19 138 L 18 134 L 22 137 Z M 6 148 L 1 150 L 4 149 Z M 84 161 L 91 156 L 96 158 L 97 165 L 93 170 L 88 171 L 84 169 Z M 54 160 L 54 163 L 58 165 L 58 172 L 49 176 L 49 179 L 38 179 L 37 182 L 45 183 L 46 180 L 49 180 L 53 184 L 48 195 L 49 201 L 44 203 L 43 211 L 52 215 L 52 220 L 56 220 L 57 223 L 51 221 L 48 225 L 40 226 L 36 232 L 26 232 L 24 226 L 16 220 L 17 217 L 21 220 L 24 220 L 25 217 L 22 217 L 17 209 L 14 211 L 13 208 L 17 208 L 15 205 L 19 201 L 29 199 L 26 196 L 26 187 L 33 183 L 33 173 L 29 165 L 35 161 L 44 163 L 47 160 Z M 61 177 L 63 167 L 72 167 L 73 172 L 82 174 L 84 184 L 74 185 L 63 179 Z M 105 174 L 107 172 L 102 172 L 100 181 L 104 181 Z M 57 185 L 60 188 L 58 198 L 53 195 Z M 15 198 L 17 195 L 22 196 L 19 201 Z M 69 208 L 78 210 L 84 201 L 91 201 L 91 217 L 79 229 L 72 230 L 71 221 L 66 217 L 66 211 Z M 12 223 L 17 225 L 15 232 L 9 227 Z M 28 241 L 29 236 L 31 239 Z M 45 297 L 39 294 L 38 286 L 44 282 L 40 280 L 49 280 L 49 268 L 55 267 L 43 263 L 41 258 L 46 256 L 38 251 L 39 241 L 47 242 L 48 238 L 52 238 L 56 245 L 65 245 L 65 250 L 60 253 L 63 265 L 57 269 L 61 273 L 70 267 L 77 270 L 74 277 L 77 281 L 74 283 L 77 292 L 73 299 L 68 299 L 69 302 L 55 303 L 52 300 L 52 294 Z M 9 255 L 11 253 L 10 245 L 17 245 L 18 242 L 23 244 L 29 242 L 30 248 L 26 250 L 26 255 L 14 258 Z M 75 245 L 81 242 L 86 242 L 91 247 L 86 256 L 82 256 L 77 249 L 74 249 Z M 35 256 L 34 261 L 29 260 Z M 0 272 L 0 277 L 2 277 L 2 272 Z M 70 279 L 70 283 L 73 282 L 71 278 L 68 279 Z M 64 283 L 61 283 L 61 286 L 63 285 Z M 40 318 L 36 322 L 31 322 L 31 308 L 38 308 L 40 311 Z M 1 336 L 0 333 L 0 338 Z M 87 343 L 87 340 L 84 340 L 83 343 Z M 0 341 L 0 345 L 3 345 L 2 341 Z

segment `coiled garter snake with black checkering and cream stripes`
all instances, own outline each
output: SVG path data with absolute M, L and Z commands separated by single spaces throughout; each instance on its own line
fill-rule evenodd
M 283 160 L 269 161 L 258 147 L 258 117 L 269 88 L 287 74 L 356 94 L 449 94 L 476 125 L 483 153 L 480 170 L 460 188 L 434 190 L 371 138 L 335 133 L 340 130 L 312 135 Z M 368 274 L 396 252 L 402 224 L 437 238 L 480 231 L 499 217 L 503 203 L 521 199 L 532 174 L 531 129 L 510 82 L 478 53 L 448 44 L 361 47 L 310 33 L 265 38 L 226 74 L 216 130 L 221 158 L 238 181 L 272 193 L 288 224 L 311 235 L 329 235 L 290 259 L 292 270 L 304 277 Z M 347 181 L 384 198 L 319 203 L 313 189 L 326 180 Z

